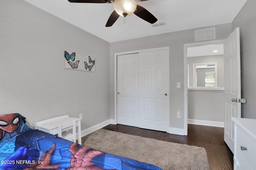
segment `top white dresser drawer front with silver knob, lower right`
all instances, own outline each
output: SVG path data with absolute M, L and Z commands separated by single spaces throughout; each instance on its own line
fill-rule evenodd
M 244 147 L 244 150 L 242 150 L 241 147 Z M 244 161 L 250 165 L 250 168 L 254 169 L 256 167 L 256 142 L 253 141 L 242 129 L 237 126 L 235 149 L 236 152 L 242 156 Z

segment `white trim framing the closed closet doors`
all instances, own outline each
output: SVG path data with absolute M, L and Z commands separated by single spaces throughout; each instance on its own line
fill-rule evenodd
M 122 53 L 115 53 L 115 58 L 114 58 L 114 111 L 115 111 L 115 119 L 112 120 L 112 123 L 117 124 L 117 56 L 118 55 L 125 55 L 125 54 L 132 54 L 132 53 L 142 53 L 142 52 L 146 52 L 146 51 L 157 51 L 157 50 L 166 50 L 167 51 L 167 58 L 168 58 L 168 62 L 169 62 L 169 47 L 159 47 L 159 48 L 153 48 L 153 49 L 143 49 L 143 50 L 136 50 L 136 51 L 126 51 L 126 52 L 122 52 Z M 168 68 L 168 78 L 170 78 L 170 70 Z M 170 94 L 170 82 L 168 81 L 168 94 Z M 170 97 L 170 95 L 168 95 Z M 170 122 L 169 120 L 169 115 L 168 114 L 168 122 Z M 169 123 L 168 123 L 168 127 L 170 127 Z M 168 132 L 169 130 L 166 129 L 166 131 Z

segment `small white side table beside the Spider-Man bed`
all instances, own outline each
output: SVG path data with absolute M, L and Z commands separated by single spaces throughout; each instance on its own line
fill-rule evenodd
M 82 145 L 82 140 L 81 140 L 82 115 L 80 115 L 79 117 L 80 118 L 69 117 L 69 115 L 53 117 L 50 119 L 46 119 L 46 120 L 34 123 L 34 127 L 35 127 L 35 129 L 38 129 L 40 131 L 44 131 L 44 132 L 50 133 L 52 135 L 56 135 L 56 134 L 58 134 L 58 125 L 62 125 L 65 122 L 75 120 L 76 127 L 78 127 L 78 144 Z

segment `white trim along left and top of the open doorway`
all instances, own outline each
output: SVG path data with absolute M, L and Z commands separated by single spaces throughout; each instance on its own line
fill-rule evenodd
M 188 57 L 187 48 L 202 45 L 223 44 L 224 39 L 184 44 L 184 135 L 188 135 Z

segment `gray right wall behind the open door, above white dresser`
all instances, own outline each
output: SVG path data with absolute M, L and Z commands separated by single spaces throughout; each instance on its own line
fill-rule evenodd
M 232 22 L 232 30 L 240 27 L 242 117 L 256 119 L 256 1 L 247 0 Z

